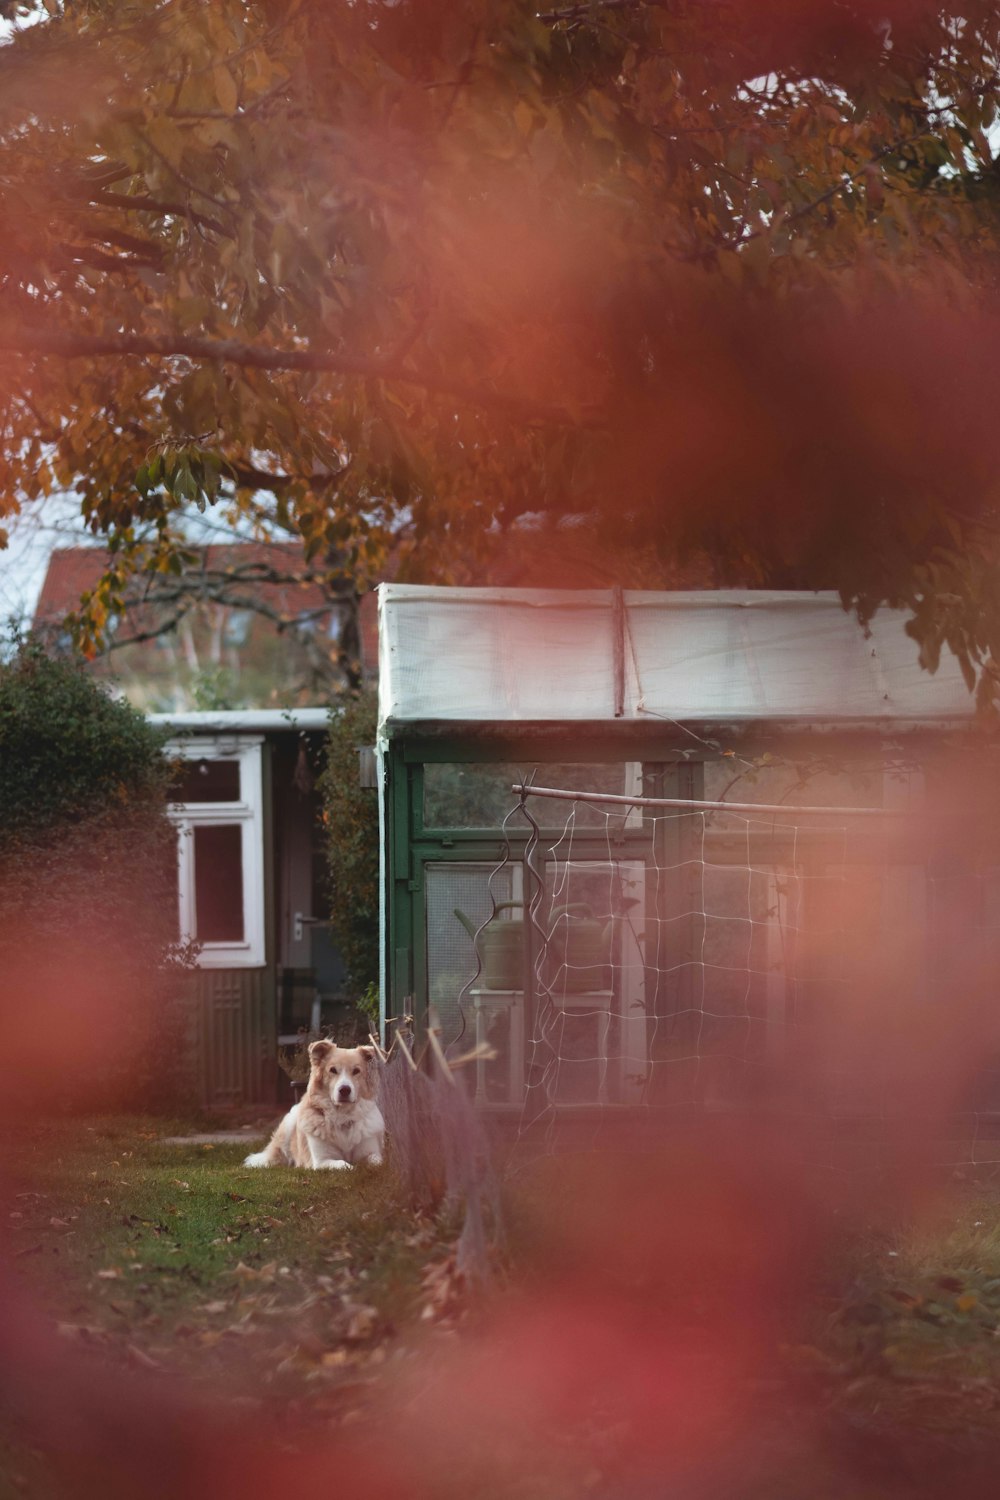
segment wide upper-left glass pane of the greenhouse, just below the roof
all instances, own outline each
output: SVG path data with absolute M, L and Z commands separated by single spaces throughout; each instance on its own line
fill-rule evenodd
M 517 806 L 511 786 L 532 778 L 532 772 L 538 786 L 567 792 L 622 796 L 640 790 L 639 766 L 630 760 L 607 765 L 429 764 L 424 765 L 424 828 L 498 828 Z M 531 808 L 546 828 L 561 828 L 571 812 L 577 828 L 604 828 L 609 812 L 586 802 L 541 798 L 535 798 Z M 510 826 L 523 831 L 526 824 L 516 818 Z

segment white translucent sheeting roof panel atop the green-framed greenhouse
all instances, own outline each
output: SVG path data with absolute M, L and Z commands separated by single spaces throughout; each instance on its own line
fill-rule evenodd
M 969 718 L 958 663 L 904 610 L 834 592 L 379 588 L 379 722 L 876 723 Z

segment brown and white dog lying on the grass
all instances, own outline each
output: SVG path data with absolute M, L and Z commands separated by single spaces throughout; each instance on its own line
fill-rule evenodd
M 385 1120 L 375 1102 L 373 1047 L 336 1047 L 313 1041 L 312 1071 L 298 1104 L 280 1122 L 264 1150 L 244 1167 L 313 1167 L 343 1170 L 382 1160 Z

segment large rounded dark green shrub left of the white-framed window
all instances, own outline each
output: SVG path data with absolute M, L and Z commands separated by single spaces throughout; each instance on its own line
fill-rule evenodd
M 0 1008 L 18 1084 L 79 1107 L 180 1102 L 177 836 L 159 734 L 33 640 L 0 664 Z

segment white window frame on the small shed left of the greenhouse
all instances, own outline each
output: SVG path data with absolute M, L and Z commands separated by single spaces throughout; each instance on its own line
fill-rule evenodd
M 240 828 L 243 858 L 243 942 L 202 942 L 196 963 L 202 969 L 255 969 L 264 964 L 264 736 L 193 735 L 166 746 L 184 760 L 235 760 L 240 798 L 232 802 L 171 802 L 168 816 L 177 828 L 177 900 L 181 942 L 195 933 L 195 828 Z

